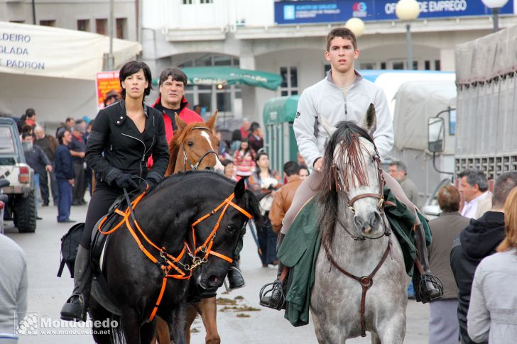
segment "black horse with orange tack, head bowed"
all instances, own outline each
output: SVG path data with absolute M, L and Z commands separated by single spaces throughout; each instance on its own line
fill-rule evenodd
M 189 284 L 185 277 L 192 272 L 191 278 L 201 287 L 220 287 L 241 228 L 251 216 L 260 216 L 258 201 L 243 181 L 235 184 L 214 172 L 200 171 L 165 178 L 134 209 L 136 223 L 148 240 L 138 233 L 131 217 L 110 234 L 103 274 L 120 316 L 92 296 L 89 314 L 97 331 L 94 340 L 150 343 L 156 314 L 170 324 L 175 344 L 185 343 L 185 324 L 172 323 L 173 318 L 182 318 L 179 313 Z M 141 241 L 140 248 L 130 228 Z M 174 257 L 179 257 L 178 262 Z M 178 278 L 164 279 L 165 274 Z M 111 326 L 114 321 L 118 326 L 103 327 L 107 318 Z

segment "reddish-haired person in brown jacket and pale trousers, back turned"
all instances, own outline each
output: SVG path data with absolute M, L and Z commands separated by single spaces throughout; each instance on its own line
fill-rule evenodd
M 459 213 L 459 201 L 459 192 L 454 186 L 442 187 L 438 192 L 442 214 L 429 223 L 432 232 L 430 268 L 443 283 L 442 299 L 430 303 L 429 344 L 458 343 L 458 289 L 450 267 L 450 251 L 456 236 L 469 224 L 469 218 Z

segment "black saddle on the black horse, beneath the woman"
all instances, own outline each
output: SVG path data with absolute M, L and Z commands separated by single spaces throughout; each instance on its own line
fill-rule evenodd
M 130 201 L 134 201 L 138 194 L 131 194 Z M 110 235 L 104 235 L 123 224 L 125 211 L 129 204 L 124 195 L 119 196 L 113 204 L 109 207 L 108 213 L 102 217 L 94 226 L 92 231 L 91 248 L 90 248 L 90 263 L 92 266 L 93 280 L 92 280 L 92 296 L 102 304 L 102 306 L 113 314 L 120 315 L 121 307 L 116 303 L 116 299 L 109 292 L 106 277 L 104 277 L 104 253 Z M 102 232 L 102 233 L 101 233 Z

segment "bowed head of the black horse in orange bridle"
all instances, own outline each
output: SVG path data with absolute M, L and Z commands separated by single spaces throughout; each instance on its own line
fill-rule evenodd
M 221 287 L 245 224 L 251 217 L 261 216 L 258 201 L 252 192 L 246 190 L 244 179 L 237 182 L 233 196 L 221 205 L 219 211 L 210 216 L 211 221 L 207 218 L 206 222 L 203 220 L 195 226 L 199 242 L 196 254 L 207 260 L 194 270 L 194 277 L 204 289 Z M 200 245 L 205 245 L 205 248 L 199 249 Z

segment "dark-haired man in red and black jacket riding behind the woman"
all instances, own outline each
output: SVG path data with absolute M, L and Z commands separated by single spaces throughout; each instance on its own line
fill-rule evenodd
M 174 136 L 174 131 L 178 128 L 174 114 L 178 113 L 187 124 L 202 122 L 203 118 L 194 111 L 188 109 L 188 101 L 185 99 L 185 87 L 187 87 L 187 75 L 178 67 L 165 68 L 160 73 L 158 81 L 160 96 L 156 99 L 153 108 L 163 114 L 165 122 L 165 135 L 167 142 Z M 153 165 L 153 157 L 148 160 L 148 167 Z

